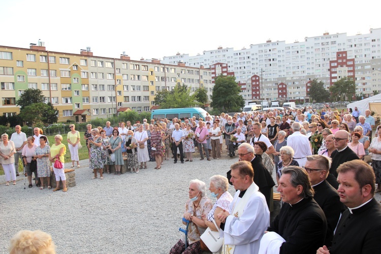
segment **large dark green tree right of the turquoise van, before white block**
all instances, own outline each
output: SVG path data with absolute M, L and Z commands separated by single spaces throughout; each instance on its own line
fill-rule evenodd
M 245 101 L 235 77 L 220 75 L 215 79 L 211 106 L 221 111 L 241 111 Z

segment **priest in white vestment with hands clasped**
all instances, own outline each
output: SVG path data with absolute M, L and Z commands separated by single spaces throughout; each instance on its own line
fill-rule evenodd
M 237 193 L 229 211 L 217 214 L 221 234 L 224 234 L 222 253 L 258 253 L 261 238 L 270 225 L 270 212 L 265 196 L 253 182 L 251 163 L 241 161 L 233 164 L 232 178 Z

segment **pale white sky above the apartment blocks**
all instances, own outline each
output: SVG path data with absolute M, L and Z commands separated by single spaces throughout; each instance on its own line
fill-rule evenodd
M 0 45 L 133 60 L 249 48 L 266 40 L 369 34 L 381 27 L 374 1 L 0 0 Z

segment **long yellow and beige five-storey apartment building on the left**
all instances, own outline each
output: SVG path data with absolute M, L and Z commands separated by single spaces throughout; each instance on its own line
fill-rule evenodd
M 192 91 L 213 90 L 210 69 L 151 61 L 47 51 L 44 43 L 29 49 L 0 46 L 0 114 L 19 113 L 16 101 L 25 89 L 43 91 L 46 102 L 58 110 L 58 121 L 85 122 L 117 112 L 149 112 L 157 91 L 185 84 Z

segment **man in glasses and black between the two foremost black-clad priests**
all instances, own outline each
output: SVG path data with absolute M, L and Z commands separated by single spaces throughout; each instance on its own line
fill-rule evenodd
M 331 246 L 333 231 L 339 221 L 341 211 L 345 209 L 340 202 L 337 190 L 326 181 L 329 173 L 331 159 L 323 155 L 307 156 L 307 162 L 304 169 L 311 181 L 315 192 L 313 199 L 322 208 L 327 218 L 327 235 L 325 245 Z

